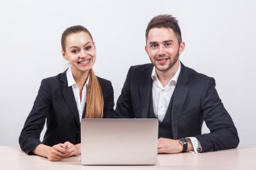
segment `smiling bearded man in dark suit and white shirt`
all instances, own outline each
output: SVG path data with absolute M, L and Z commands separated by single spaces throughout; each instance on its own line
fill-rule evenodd
M 115 117 L 158 118 L 158 153 L 236 148 L 238 134 L 214 78 L 185 67 L 179 60 L 184 48 L 177 19 L 154 17 L 145 47 L 152 64 L 129 69 Z M 209 134 L 201 134 L 203 121 Z

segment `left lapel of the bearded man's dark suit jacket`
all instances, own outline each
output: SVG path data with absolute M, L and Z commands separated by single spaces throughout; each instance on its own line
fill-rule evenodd
M 150 106 L 150 95 L 152 91 L 152 67 L 146 69 L 143 74 L 141 74 L 141 79 L 139 82 L 139 97 L 141 101 L 141 118 L 148 118 L 149 106 Z

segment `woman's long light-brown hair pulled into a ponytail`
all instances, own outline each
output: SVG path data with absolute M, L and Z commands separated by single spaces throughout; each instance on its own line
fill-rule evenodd
M 65 40 L 70 34 L 75 34 L 79 32 L 86 32 L 92 38 L 92 34 L 84 26 L 72 26 L 67 28 L 61 36 L 61 47 L 65 51 Z M 93 39 L 92 39 L 93 42 Z M 94 74 L 94 71 L 90 69 L 89 71 L 89 87 L 86 93 L 86 109 L 83 115 L 86 118 L 102 118 L 104 110 L 104 101 L 102 94 L 102 87 L 98 78 Z

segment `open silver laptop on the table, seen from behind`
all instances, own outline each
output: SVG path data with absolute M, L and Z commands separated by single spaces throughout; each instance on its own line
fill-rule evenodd
M 82 119 L 82 165 L 156 165 L 157 119 Z

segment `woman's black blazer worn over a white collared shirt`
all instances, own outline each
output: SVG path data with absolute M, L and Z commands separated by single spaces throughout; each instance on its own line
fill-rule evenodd
M 98 77 L 104 99 L 103 118 L 113 118 L 114 92 L 110 81 Z M 44 140 L 40 133 L 46 120 Z M 22 151 L 32 154 L 40 143 L 48 146 L 69 141 L 80 142 L 80 120 L 72 87 L 67 87 L 67 75 L 43 79 L 33 108 L 28 115 L 19 142 Z

